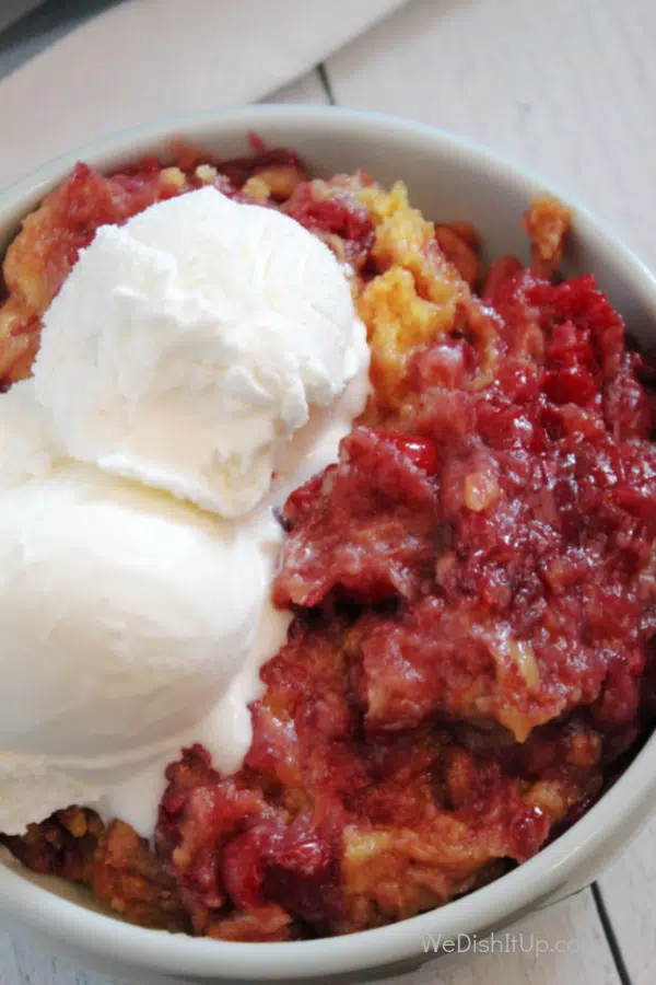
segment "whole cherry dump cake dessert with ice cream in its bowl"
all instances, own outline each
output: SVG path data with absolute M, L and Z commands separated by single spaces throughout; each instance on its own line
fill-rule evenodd
M 653 286 L 433 131 L 172 129 L 13 193 L 4 844 L 142 925 L 83 916 L 128 967 L 407 959 L 651 807 Z

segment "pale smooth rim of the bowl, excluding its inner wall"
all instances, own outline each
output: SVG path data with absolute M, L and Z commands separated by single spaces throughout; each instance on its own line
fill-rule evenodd
M 651 300 L 656 316 L 654 276 L 621 240 L 585 208 L 573 202 L 571 195 L 475 141 L 425 124 L 335 106 L 270 104 L 210 111 L 157 120 L 94 140 L 57 157 L 0 190 L 0 233 L 8 223 L 21 218 L 30 204 L 50 185 L 60 181 L 80 157 L 102 164 L 116 157 L 139 154 L 149 144 L 163 142 L 172 134 L 184 131 L 202 142 L 203 132 L 209 136 L 222 127 L 238 124 L 246 134 L 267 121 L 277 126 L 306 123 L 313 131 L 321 132 L 358 130 L 363 139 L 367 134 L 391 132 L 399 139 L 425 146 L 436 155 L 464 157 L 476 162 L 492 178 L 495 175 L 511 178 L 527 197 L 538 189 L 551 192 L 572 205 L 576 225 L 588 239 L 612 248 L 617 267 L 636 291 Z M 456 939 L 458 934 L 480 934 L 503 926 L 504 920 L 548 900 L 573 873 L 600 865 L 613 839 L 622 844 L 629 841 L 656 807 L 656 776 L 652 768 L 655 751 L 656 737 L 652 737 L 602 798 L 530 860 L 440 909 L 377 929 L 280 943 L 192 938 L 138 927 L 109 914 L 87 909 L 28 881 L 17 869 L 7 865 L 0 865 L 0 911 L 81 952 L 169 975 L 293 981 L 380 969 L 422 954 L 427 960 L 432 952 L 425 953 L 422 939 L 437 935 L 442 935 L 443 940 Z

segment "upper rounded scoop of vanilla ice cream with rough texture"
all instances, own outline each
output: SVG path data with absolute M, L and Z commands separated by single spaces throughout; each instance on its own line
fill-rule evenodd
M 44 323 L 36 393 L 67 453 L 227 518 L 362 367 L 328 247 L 210 187 L 101 228 Z

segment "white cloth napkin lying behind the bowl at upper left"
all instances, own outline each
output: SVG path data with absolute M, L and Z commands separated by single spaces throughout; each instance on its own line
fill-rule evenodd
M 129 0 L 0 82 L 0 189 L 125 127 L 249 103 L 402 0 Z

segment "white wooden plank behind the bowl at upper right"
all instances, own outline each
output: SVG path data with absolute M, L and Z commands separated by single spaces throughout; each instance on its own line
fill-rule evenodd
M 656 267 L 656 3 L 414 0 L 327 62 L 342 105 L 537 170 Z

